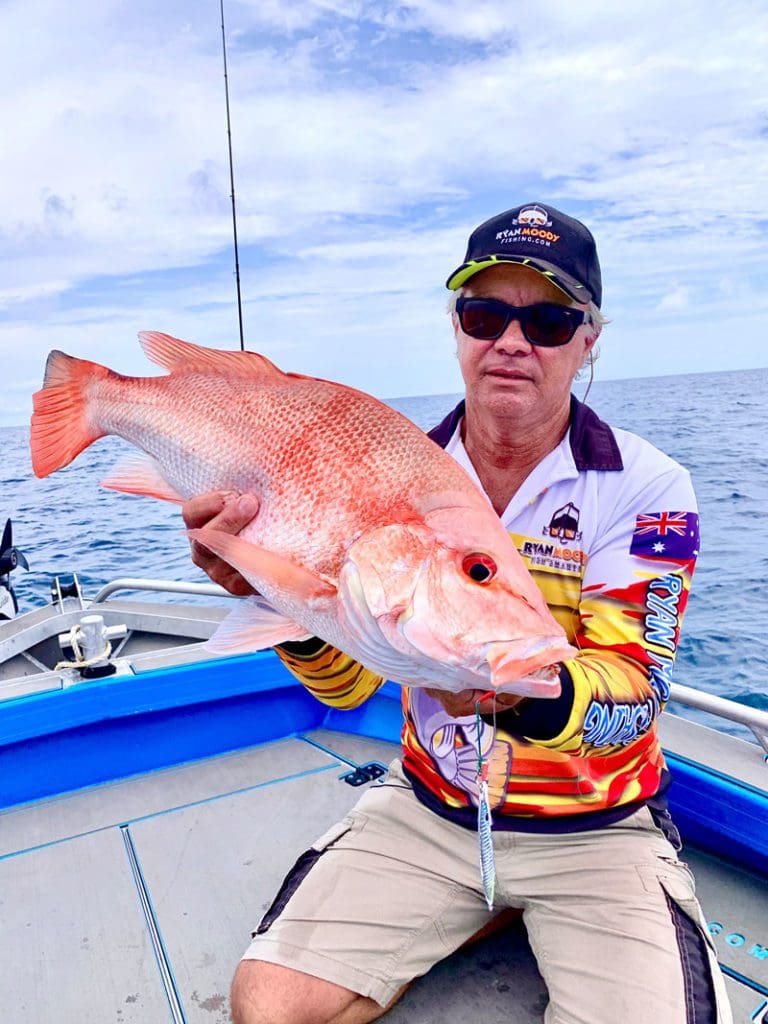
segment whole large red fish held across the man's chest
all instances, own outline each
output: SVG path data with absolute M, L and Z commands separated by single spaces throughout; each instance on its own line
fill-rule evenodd
M 261 595 L 240 603 L 214 649 L 315 635 L 412 686 L 559 693 L 558 663 L 575 651 L 485 496 L 418 427 L 253 352 L 139 338 L 166 376 L 50 353 L 33 467 L 46 476 L 117 434 L 145 457 L 104 486 L 172 502 L 256 496 L 240 537 L 190 532 Z

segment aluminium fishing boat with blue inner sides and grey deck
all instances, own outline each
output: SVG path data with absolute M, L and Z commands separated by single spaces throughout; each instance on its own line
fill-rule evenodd
M 86 599 L 66 578 L 51 594 L 0 623 L 3 1020 L 223 1024 L 283 876 L 397 755 L 399 689 L 341 712 L 271 651 L 210 656 L 227 610 L 213 584 L 121 579 Z M 683 856 L 734 1020 L 768 1024 L 768 713 L 680 684 L 671 708 Z M 512 920 L 387 1019 L 530 1024 L 546 1002 Z

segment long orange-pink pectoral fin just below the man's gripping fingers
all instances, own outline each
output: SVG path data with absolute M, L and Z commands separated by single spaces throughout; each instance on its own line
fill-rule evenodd
M 323 605 L 337 595 L 337 589 L 330 580 L 242 537 L 207 527 L 187 530 L 187 537 L 223 558 L 245 577 L 254 590 L 276 589 L 292 600 L 310 606 Z

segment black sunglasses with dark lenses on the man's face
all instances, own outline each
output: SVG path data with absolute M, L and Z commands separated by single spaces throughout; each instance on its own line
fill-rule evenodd
M 501 299 L 474 297 L 457 299 L 456 311 L 462 331 L 471 338 L 496 341 L 516 319 L 526 341 L 545 348 L 567 345 L 582 324 L 592 319 L 583 309 L 558 306 L 555 302 L 510 306 Z

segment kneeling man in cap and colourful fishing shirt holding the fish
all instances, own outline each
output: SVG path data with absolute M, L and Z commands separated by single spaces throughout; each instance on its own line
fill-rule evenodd
M 487 495 L 579 655 L 555 699 L 403 688 L 401 764 L 286 879 L 238 969 L 234 1020 L 375 1020 L 487 925 L 479 751 L 497 910 L 523 911 L 549 1024 L 723 1024 L 655 725 L 697 553 L 688 473 L 570 396 L 603 323 L 583 224 L 506 211 L 472 233 L 447 287 L 466 401 L 431 436 Z M 185 520 L 238 531 L 257 512 L 241 501 L 195 499 Z M 194 558 L 247 592 L 204 549 Z M 329 703 L 381 684 L 321 640 L 278 652 Z

